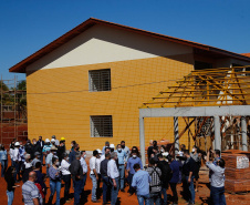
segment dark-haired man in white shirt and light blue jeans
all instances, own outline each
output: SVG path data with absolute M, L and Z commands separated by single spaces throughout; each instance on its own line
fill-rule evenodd
M 97 166 L 96 166 L 96 156 L 98 155 L 98 151 L 93 151 L 93 156 L 90 160 L 90 168 L 91 168 L 91 180 L 92 180 L 92 196 L 91 201 L 93 203 L 98 203 L 96 198 L 96 188 L 97 188 L 97 181 L 98 181 L 98 174 L 97 174 Z

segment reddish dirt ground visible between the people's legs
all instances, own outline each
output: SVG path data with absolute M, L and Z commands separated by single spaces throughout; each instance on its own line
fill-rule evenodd
M 45 173 L 45 167 L 43 167 L 43 172 Z M 22 185 L 22 183 L 19 183 L 19 185 Z M 49 187 L 49 180 L 46 180 L 46 185 Z M 102 185 L 101 185 L 102 187 Z M 92 203 L 91 202 L 91 188 L 92 188 L 92 182 L 90 176 L 87 176 L 86 180 L 86 186 L 85 186 L 85 193 L 84 196 L 81 198 L 81 204 L 85 204 L 85 205 L 92 205 L 92 204 L 102 204 L 102 196 L 101 196 L 101 203 Z M 177 186 L 178 188 L 178 196 L 179 196 L 179 205 L 183 204 L 187 204 L 186 201 L 181 196 L 181 184 L 179 184 Z M 7 184 L 4 182 L 4 180 L 2 177 L 0 177 L 0 205 L 6 205 L 7 204 L 7 195 L 6 195 L 6 189 L 7 189 Z M 128 187 L 125 188 L 125 191 L 127 191 Z M 63 204 L 63 192 L 64 192 L 64 186 L 62 185 L 62 189 L 61 189 L 61 204 Z M 73 197 L 73 187 L 71 186 L 71 197 Z M 168 194 L 168 202 L 170 203 L 170 198 L 171 198 L 171 191 L 168 189 L 167 191 Z M 209 203 L 209 181 L 208 181 L 208 171 L 206 170 L 206 167 L 202 167 L 200 171 L 200 183 L 199 183 L 199 191 L 196 193 L 196 204 L 197 205 L 201 205 L 201 204 L 211 204 Z M 46 201 L 49 198 L 50 195 L 50 188 L 48 189 L 48 194 L 46 194 Z M 232 194 L 227 194 L 226 193 L 226 201 L 227 201 L 227 205 L 247 205 L 250 204 L 250 194 L 244 194 L 244 195 L 232 195 Z M 55 202 L 55 196 L 54 196 L 54 201 Z M 13 201 L 13 205 L 19 205 L 19 204 L 23 204 L 22 203 L 22 192 L 21 192 L 21 187 L 15 188 L 14 192 L 14 201 Z M 71 203 L 66 203 L 69 205 L 73 205 L 74 201 L 72 199 Z M 127 204 L 138 204 L 137 198 L 135 195 L 133 196 L 128 196 L 128 193 L 118 193 L 118 205 L 127 205 Z

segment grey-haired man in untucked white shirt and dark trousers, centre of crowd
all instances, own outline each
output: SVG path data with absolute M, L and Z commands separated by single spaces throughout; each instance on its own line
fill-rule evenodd
M 118 196 L 118 189 L 119 189 L 119 184 L 118 184 L 118 178 L 119 178 L 119 173 L 118 168 L 116 165 L 117 160 L 117 153 L 112 152 L 111 153 L 111 161 L 107 163 L 107 176 L 111 178 L 112 182 L 112 194 L 111 194 L 111 205 L 115 205 Z

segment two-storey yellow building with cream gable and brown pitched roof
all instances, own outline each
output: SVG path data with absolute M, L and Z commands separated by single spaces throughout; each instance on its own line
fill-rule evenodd
M 29 137 L 64 136 L 67 147 L 75 140 L 91 151 L 105 141 L 138 145 L 138 107 L 191 70 L 249 62 L 246 55 L 91 18 L 10 72 L 27 74 Z M 146 145 L 174 141 L 173 119 L 145 123 Z M 188 143 L 187 135 L 180 143 Z

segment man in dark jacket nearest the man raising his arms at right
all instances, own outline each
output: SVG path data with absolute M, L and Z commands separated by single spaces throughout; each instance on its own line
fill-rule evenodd
M 187 193 L 186 198 L 189 201 L 189 204 L 195 204 L 195 187 L 194 178 L 197 167 L 195 160 L 190 156 L 189 151 L 184 151 L 184 156 L 187 158 L 183 166 L 183 174 L 185 176 L 184 181 L 184 193 Z

